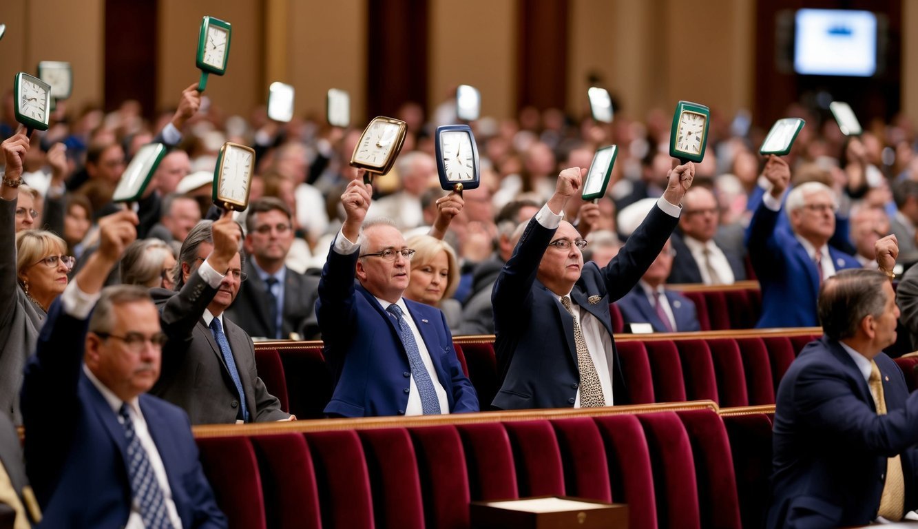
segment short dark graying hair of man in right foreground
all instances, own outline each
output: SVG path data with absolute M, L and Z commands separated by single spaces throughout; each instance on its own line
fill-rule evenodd
M 823 281 L 817 308 L 823 332 L 833 340 L 854 336 L 860 322 L 869 316 L 879 318 L 886 305 L 880 295 L 889 278 L 877 270 L 842 270 Z

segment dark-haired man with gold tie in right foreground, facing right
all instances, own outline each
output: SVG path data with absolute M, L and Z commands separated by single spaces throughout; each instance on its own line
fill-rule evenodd
M 878 242 L 887 270 L 895 238 Z M 886 264 L 883 264 L 884 261 Z M 841 527 L 918 507 L 918 393 L 882 352 L 896 340 L 895 294 L 882 272 L 845 270 L 823 284 L 823 338 L 778 387 L 768 527 Z

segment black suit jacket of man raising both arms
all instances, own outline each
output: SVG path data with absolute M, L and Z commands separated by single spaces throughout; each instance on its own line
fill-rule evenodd
M 610 336 L 610 302 L 627 294 L 644 275 L 676 223 L 675 217 L 654 207 L 605 268 L 584 264 L 571 298 L 580 310 L 598 318 Z M 554 231 L 535 218 L 530 220 L 494 286 L 495 350 L 503 376 L 494 406 L 500 409 L 571 407 L 577 397 L 580 373 L 574 319 L 536 279 Z M 610 356 L 614 400 L 621 403 L 627 393 L 622 391 L 624 378 L 614 340 L 612 350 L 605 353 Z

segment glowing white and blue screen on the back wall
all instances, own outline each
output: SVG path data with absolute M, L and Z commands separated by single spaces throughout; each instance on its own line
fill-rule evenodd
M 794 71 L 869 77 L 877 72 L 877 16 L 869 11 L 800 9 Z

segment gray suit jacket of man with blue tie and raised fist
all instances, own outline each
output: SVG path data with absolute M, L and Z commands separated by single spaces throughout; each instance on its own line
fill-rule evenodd
M 150 392 L 184 409 L 192 424 L 232 423 L 241 418 L 239 393 L 202 317 L 216 294 L 217 289 L 197 273 L 178 293 L 163 288 L 151 290 L 169 342 L 162 349 L 162 374 Z M 252 339 L 226 315 L 223 329 L 239 370 L 250 420 L 278 421 L 289 417 L 258 377 Z

